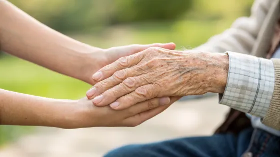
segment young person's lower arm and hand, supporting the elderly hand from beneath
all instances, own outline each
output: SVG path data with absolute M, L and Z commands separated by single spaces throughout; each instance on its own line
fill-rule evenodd
M 172 98 L 171 102 L 175 99 Z M 127 110 L 95 107 L 91 100 L 50 99 L 0 89 L 0 125 L 58 128 L 132 127 L 165 110 L 170 99 L 155 98 Z M 169 105 L 168 105 L 169 104 Z

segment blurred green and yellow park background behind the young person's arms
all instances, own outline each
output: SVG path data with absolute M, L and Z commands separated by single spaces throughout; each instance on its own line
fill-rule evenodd
M 253 0 L 9 0 L 49 27 L 101 47 L 174 42 L 193 48 L 249 15 Z M 1 53 L 0 88 L 59 99 L 78 99 L 90 87 Z M 4 77 L 3 77 L 4 76 Z M 0 145 L 35 127 L 0 126 Z

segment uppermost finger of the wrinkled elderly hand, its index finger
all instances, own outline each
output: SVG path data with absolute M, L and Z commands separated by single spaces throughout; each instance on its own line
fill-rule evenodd
M 144 53 L 140 52 L 140 53 L 136 53 L 127 57 L 121 57 L 118 60 L 116 60 L 115 62 L 104 66 L 103 68 L 101 68 L 100 70 L 98 70 L 96 73 L 94 73 L 92 75 L 92 79 L 95 82 L 104 80 L 108 77 L 110 77 L 111 75 L 113 75 L 113 73 L 115 73 L 116 71 L 125 69 L 125 68 L 129 68 L 131 66 L 134 66 L 136 64 L 138 64 L 142 58 L 144 57 Z

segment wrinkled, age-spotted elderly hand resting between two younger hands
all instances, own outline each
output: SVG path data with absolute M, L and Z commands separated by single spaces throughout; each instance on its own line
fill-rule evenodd
M 222 93 L 227 71 L 226 54 L 152 47 L 93 74 L 97 83 L 87 97 L 96 106 L 120 110 L 155 97 Z

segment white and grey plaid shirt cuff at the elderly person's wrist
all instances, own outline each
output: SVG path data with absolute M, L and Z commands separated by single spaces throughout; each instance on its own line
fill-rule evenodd
M 227 83 L 219 103 L 257 117 L 265 117 L 274 89 L 273 62 L 251 55 L 229 56 Z

